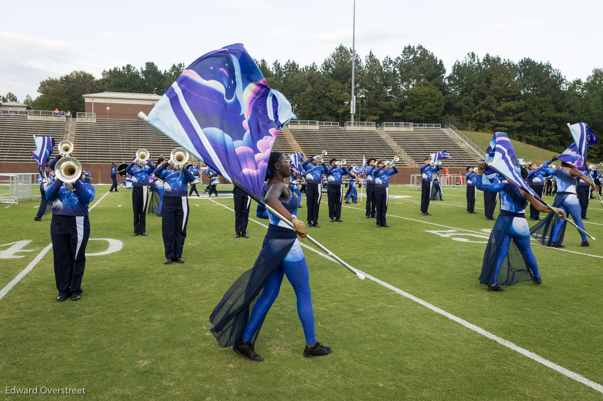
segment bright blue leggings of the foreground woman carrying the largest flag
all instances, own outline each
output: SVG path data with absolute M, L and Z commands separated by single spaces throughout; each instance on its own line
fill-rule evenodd
M 308 276 L 308 264 L 306 258 L 299 261 L 282 261 L 280 266 L 274 271 L 273 275 L 264 286 L 262 294 L 253 306 L 251 316 L 245 326 L 243 333 L 244 341 L 251 341 L 251 337 L 256 332 L 257 327 L 262 323 L 268 313 L 268 309 L 279 295 L 280 284 L 283 282 L 283 275 L 291 283 L 297 297 L 297 314 L 301 320 L 301 326 L 306 337 L 306 344 L 316 343 L 314 334 L 314 312 L 312 311 L 312 296 L 310 294 L 310 282 Z

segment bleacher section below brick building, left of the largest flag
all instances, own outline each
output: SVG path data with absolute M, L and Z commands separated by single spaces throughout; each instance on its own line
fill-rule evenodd
M 96 119 L 77 123 L 74 157 L 82 163 L 128 163 L 138 149 L 147 149 L 156 163 L 159 155 L 166 160 L 178 145 L 142 120 Z

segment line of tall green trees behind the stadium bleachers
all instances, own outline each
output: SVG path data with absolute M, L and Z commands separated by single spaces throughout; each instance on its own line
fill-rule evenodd
M 352 58 L 352 50 L 339 45 L 320 66 L 292 60 L 256 63 L 268 85 L 289 99 L 298 119 L 343 124 L 350 119 Z M 469 53 L 447 73 L 443 61 L 421 45 L 405 46 L 397 57 L 382 60 L 373 52 L 364 59 L 356 54 L 354 62 L 355 121 L 447 120 L 459 129 L 507 132 L 554 152 L 571 143 L 567 122 L 586 122 L 603 141 L 603 68 L 593 69 L 585 81 L 568 81 L 549 62 Z M 84 110 L 84 93 L 163 95 L 184 68 L 183 63 L 164 71 L 153 62 L 140 68 L 128 64 L 104 70 L 99 79 L 74 71 L 40 82 L 40 95 L 27 101 L 37 109 L 73 113 Z M 589 155 L 603 156 L 602 148 L 593 146 Z

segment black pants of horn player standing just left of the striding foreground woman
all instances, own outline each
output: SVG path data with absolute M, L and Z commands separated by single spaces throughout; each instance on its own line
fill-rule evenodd
M 161 231 L 166 259 L 182 258 L 188 223 L 188 197 L 163 194 Z

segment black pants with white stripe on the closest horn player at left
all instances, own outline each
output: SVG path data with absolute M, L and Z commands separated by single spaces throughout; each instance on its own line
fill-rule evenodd
M 50 238 L 54 256 L 54 279 L 59 295 L 81 294 L 81 278 L 86 267 L 89 237 L 88 216 L 52 214 Z

